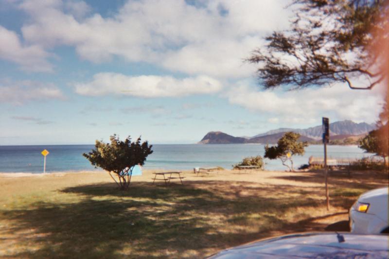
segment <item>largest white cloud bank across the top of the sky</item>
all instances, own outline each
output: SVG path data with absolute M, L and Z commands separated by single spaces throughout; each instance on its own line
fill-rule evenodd
M 286 4 L 210 0 L 195 7 L 183 0 L 140 0 L 128 1 L 111 17 L 84 17 L 90 11 L 84 2 L 64 7 L 58 0 L 25 0 L 19 7 L 31 16 L 21 29 L 24 38 L 40 46 L 74 46 L 92 62 L 120 56 L 191 75 L 242 77 L 255 71 L 242 60 L 261 36 L 287 26 Z

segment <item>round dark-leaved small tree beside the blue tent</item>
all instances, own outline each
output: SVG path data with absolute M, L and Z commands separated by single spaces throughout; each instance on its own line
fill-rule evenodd
M 127 190 L 131 182 L 132 169 L 135 165 L 143 165 L 147 155 L 153 153 L 152 145 L 145 141 L 141 143 L 141 137 L 131 142 L 130 136 L 124 141 L 114 134 L 109 138 L 111 143 L 104 143 L 96 140 L 92 152 L 84 153 L 89 162 L 95 167 L 108 171 L 111 178 L 122 190 Z M 112 173 L 115 173 L 116 180 Z

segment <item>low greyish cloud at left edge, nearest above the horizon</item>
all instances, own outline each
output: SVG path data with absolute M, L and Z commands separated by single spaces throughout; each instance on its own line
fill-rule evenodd
M 0 82 L 0 102 L 21 105 L 29 101 L 65 100 L 61 90 L 53 84 L 35 81 Z

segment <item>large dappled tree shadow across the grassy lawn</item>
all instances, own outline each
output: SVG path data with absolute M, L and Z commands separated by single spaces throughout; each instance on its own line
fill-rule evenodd
M 295 198 L 286 198 L 293 193 Z M 9 233 L 35 229 L 24 245 L 28 258 L 185 258 L 284 233 L 323 230 L 307 217 L 297 224 L 282 215 L 296 207 L 320 207 L 297 187 L 198 181 L 191 185 L 153 186 L 137 182 L 128 191 L 114 184 L 61 190 L 74 203 L 36 203 L 32 209 L 1 211 L 17 224 Z M 278 197 L 277 195 L 283 195 Z M 248 231 L 245 226 L 256 228 Z

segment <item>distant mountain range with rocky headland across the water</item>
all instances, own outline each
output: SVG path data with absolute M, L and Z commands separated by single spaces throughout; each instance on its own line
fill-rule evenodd
M 366 135 L 369 131 L 375 129 L 375 124 L 365 122 L 355 123 L 353 121 L 336 121 L 330 123 L 330 141 L 333 144 L 353 144 L 359 138 Z M 226 133 L 217 131 L 209 132 L 199 142 L 200 144 L 230 144 L 230 143 L 277 143 L 285 132 L 292 131 L 301 135 L 300 141 L 311 143 L 318 142 L 321 139 L 321 125 L 307 129 L 279 128 L 270 130 L 253 137 L 233 137 Z

